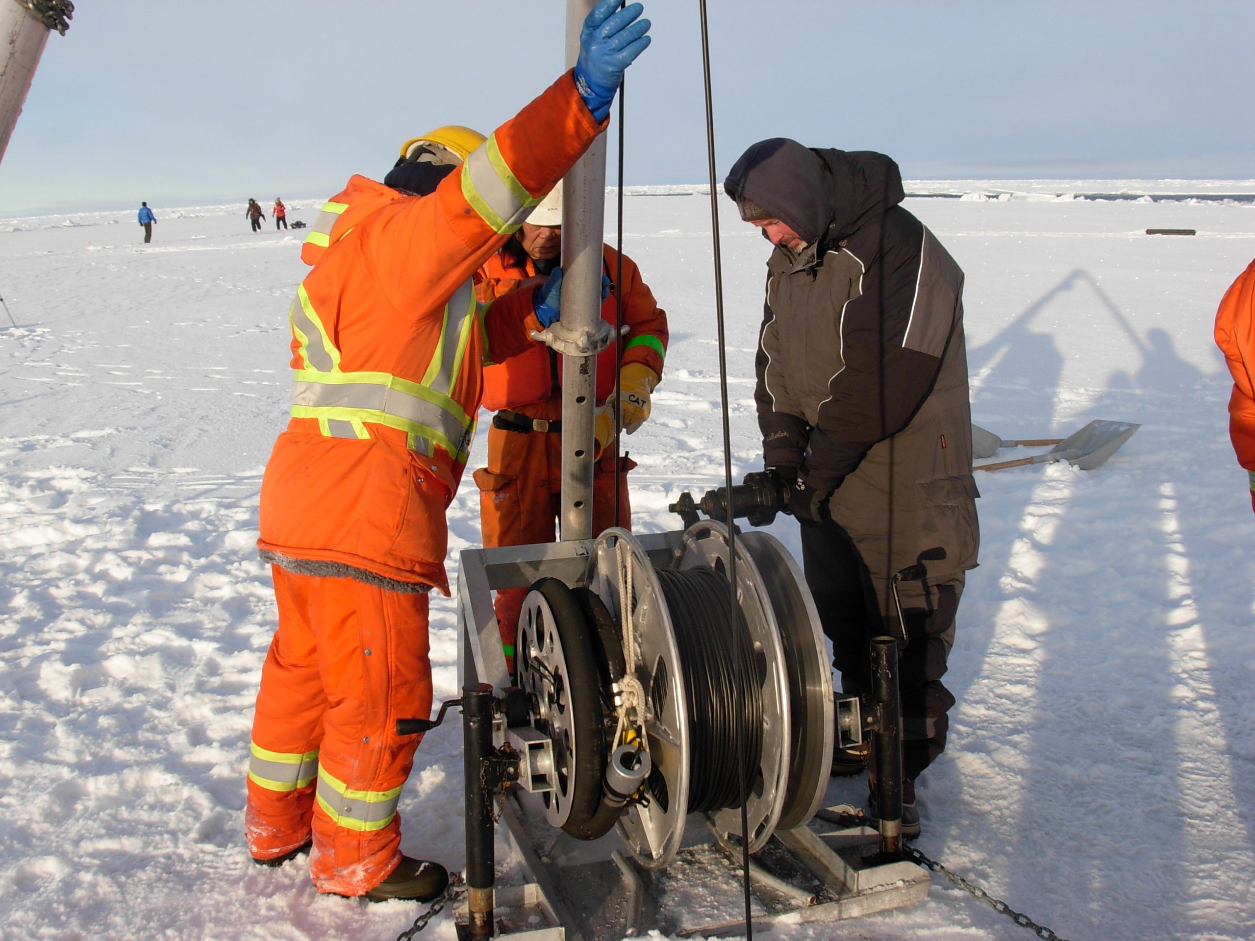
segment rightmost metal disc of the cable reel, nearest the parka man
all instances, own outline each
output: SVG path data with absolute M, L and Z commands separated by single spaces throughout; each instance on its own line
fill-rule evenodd
M 779 625 L 788 670 L 789 774 L 779 829 L 793 829 L 814 817 L 828 789 L 836 719 L 832 714 L 832 669 L 814 598 L 797 561 L 764 532 L 737 537 L 758 566 Z

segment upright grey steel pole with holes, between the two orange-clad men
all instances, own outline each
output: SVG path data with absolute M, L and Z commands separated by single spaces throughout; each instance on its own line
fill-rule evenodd
M 580 29 L 595 0 L 567 0 L 566 66 L 580 55 Z M 562 183 L 562 327 L 591 334 L 601 320 L 606 138 L 597 137 Z M 592 422 L 597 356 L 562 356 L 563 540 L 592 538 Z

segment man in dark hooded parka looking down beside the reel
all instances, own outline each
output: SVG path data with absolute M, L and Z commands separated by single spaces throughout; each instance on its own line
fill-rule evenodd
M 941 684 L 979 534 L 963 334 L 963 271 L 901 203 L 881 153 L 773 138 L 724 182 L 773 245 L 754 398 L 763 463 L 789 487 L 806 580 L 847 694 L 868 684 L 868 639 L 901 636 L 904 834 L 915 779 L 945 748 Z M 835 770 L 860 768 L 838 753 Z M 912 821 L 910 818 L 914 817 Z

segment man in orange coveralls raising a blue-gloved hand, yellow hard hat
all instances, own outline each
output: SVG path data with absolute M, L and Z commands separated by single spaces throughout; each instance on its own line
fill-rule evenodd
M 444 511 L 482 359 L 522 351 L 557 316 L 552 280 L 483 309 L 472 276 L 605 129 L 649 44 L 641 5 L 617 4 L 594 8 L 575 69 L 459 172 L 418 148 L 385 186 L 355 176 L 302 250 L 314 268 L 291 307 L 292 418 L 261 487 L 279 630 L 245 829 L 262 864 L 312 843 L 320 892 L 429 901 L 448 883 L 441 864 L 400 852 L 397 803 L 418 739 L 399 738 L 395 720 L 430 713 L 425 592 L 448 595 Z

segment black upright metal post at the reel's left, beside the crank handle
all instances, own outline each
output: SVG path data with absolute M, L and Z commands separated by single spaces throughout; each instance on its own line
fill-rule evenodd
M 484 760 L 492 754 L 492 686 L 462 688 L 462 744 L 467 808 L 467 908 L 469 936 L 492 937 L 493 853 L 492 792 L 484 784 Z

